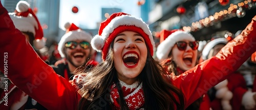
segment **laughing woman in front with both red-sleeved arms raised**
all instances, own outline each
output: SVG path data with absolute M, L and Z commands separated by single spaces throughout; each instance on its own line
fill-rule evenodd
M 255 19 L 216 57 L 168 78 L 152 58 L 155 46 L 148 26 L 139 18 L 114 13 L 91 42 L 102 51 L 103 61 L 69 83 L 36 55 L 0 5 L 0 53 L 8 55 L 8 63 L 1 58 L 0 70 L 8 69 L 10 80 L 48 109 L 184 109 L 256 51 L 251 45 L 256 42 Z

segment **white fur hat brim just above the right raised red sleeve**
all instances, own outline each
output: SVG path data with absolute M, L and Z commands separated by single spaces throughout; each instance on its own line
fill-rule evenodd
M 216 38 L 216 39 L 211 40 L 210 42 L 208 42 L 206 44 L 206 46 L 204 47 L 203 52 L 202 52 L 203 60 L 208 59 L 208 55 L 209 55 L 210 50 L 212 48 L 214 48 L 216 45 L 220 44 L 220 43 L 227 44 L 226 38 Z

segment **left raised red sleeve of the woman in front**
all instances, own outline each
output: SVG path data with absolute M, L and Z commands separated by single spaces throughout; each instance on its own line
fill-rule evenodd
M 0 24 L 0 70 L 46 108 L 75 109 L 76 88 L 39 58 L 1 3 Z

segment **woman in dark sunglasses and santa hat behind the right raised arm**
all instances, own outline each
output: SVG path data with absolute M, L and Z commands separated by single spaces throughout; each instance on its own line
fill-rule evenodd
M 162 30 L 156 56 L 169 75 L 180 75 L 195 67 L 198 41 L 183 30 Z M 186 109 L 210 109 L 207 94 L 190 104 Z

